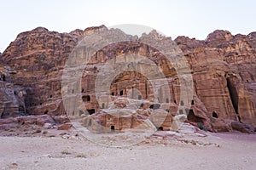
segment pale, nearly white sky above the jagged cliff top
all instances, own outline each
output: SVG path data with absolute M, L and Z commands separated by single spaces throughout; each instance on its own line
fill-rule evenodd
M 22 31 L 44 26 L 70 32 L 90 26 L 137 24 L 175 39 L 206 39 L 217 29 L 256 31 L 255 0 L 0 0 L 0 52 Z

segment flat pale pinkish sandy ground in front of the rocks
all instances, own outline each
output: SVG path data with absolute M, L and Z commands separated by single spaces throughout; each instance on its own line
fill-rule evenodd
M 52 135 L 54 136 L 54 135 Z M 246 169 L 256 168 L 256 135 L 207 133 L 154 136 L 129 147 L 79 137 L 0 137 L 1 169 Z

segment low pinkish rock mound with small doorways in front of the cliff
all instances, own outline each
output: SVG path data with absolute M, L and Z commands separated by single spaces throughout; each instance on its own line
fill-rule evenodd
M 81 120 L 82 125 L 94 133 L 111 133 L 113 131 L 132 132 L 132 130 L 154 131 L 156 129 L 177 131 L 178 123 L 182 122 L 161 108 L 152 109 L 150 105 L 146 108 L 145 106 L 134 107 L 137 103 L 146 105 L 148 100 L 116 97 L 113 102 L 110 102 L 111 106 L 108 110 L 85 116 Z M 156 104 L 151 103 L 151 105 Z

